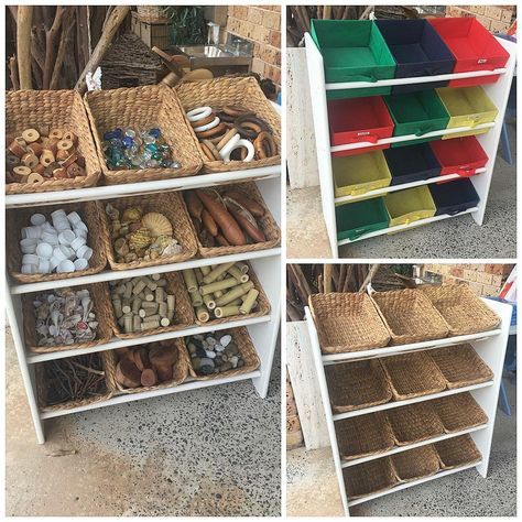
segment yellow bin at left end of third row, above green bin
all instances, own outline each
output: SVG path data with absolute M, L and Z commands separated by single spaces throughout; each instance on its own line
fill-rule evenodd
M 391 172 L 382 151 L 331 159 L 335 197 L 360 196 L 391 183 Z

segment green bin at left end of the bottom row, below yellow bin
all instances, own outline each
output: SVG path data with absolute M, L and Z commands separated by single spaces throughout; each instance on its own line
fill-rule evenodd
M 358 239 L 360 236 L 388 228 L 388 211 L 382 197 L 365 199 L 336 207 L 337 239 Z

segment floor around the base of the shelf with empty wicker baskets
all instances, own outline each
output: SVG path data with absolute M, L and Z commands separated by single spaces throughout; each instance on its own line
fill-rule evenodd
M 497 411 L 488 478 L 475 469 L 355 505 L 355 516 L 515 516 L 516 387 L 507 384 L 512 415 Z M 289 516 L 344 514 L 330 448 L 286 453 Z

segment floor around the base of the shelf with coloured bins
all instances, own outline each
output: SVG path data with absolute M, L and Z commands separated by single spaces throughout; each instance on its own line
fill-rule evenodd
M 509 124 L 513 161 L 516 161 L 515 124 Z M 493 178 L 479 227 L 465 215 L 425 227 L 379 236 L 344 246 L 340 258 L 515 258 L 516 180 L 515 166 L 497 156 Z M 286 254 L 290 259 L 330 258 L 331 251 L 320 208 L 319 187 L 287 189 Z

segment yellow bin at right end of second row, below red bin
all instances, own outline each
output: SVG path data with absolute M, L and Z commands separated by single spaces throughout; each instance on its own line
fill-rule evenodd
M 441 101 L 449 113 L 447 129 L 457 127 L 477 127 L 481 123 L 494 121 L 499 113 L 497 107 L 488 98 L 482 87 L 444 87 L 436 89 Z M 483 134 L 489 129 L 470 130 L 447 134 L 443 140 L 459 138 L 463 135 Z

